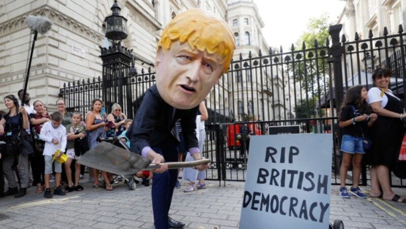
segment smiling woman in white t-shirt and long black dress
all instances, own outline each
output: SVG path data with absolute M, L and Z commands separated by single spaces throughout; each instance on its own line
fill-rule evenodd
M 390 169 L 393 169 L 399 155 L 404 135 L 402 120 L 406 117 L 403 104 L 389 89 L 390 69 L 377 68 L 372 79 L 376 87 L 369 89 L 367 102 L 378 114 L 371 128 L 372 147 L 367 164 L 371 165 L 371 197 L 406 203 L 406 199 L 396 195 L 390 184 Z

